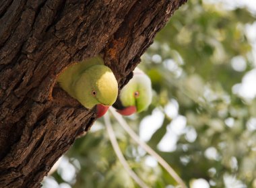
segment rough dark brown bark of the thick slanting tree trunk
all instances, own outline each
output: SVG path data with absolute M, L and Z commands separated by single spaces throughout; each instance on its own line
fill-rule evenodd
M 102 54 L 120 89 L 185 1 L 0 1 L 0 187 L 40 187 L 96 119 L 56 85 L 58 73 Z

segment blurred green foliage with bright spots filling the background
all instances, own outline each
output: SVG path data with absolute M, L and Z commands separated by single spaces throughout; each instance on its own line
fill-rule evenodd
M 153 103 L 148 111 L 126 119 L 137 132 L 143 122 L 161 124 L 148 144 L 187 185 L 193 179 L 205 179 L 210 187 L 256 187 L 256 100 L 234 89 L 255 68 L 252 42 L 245 30 L 255 17 L 245 8 L 228 10 L 209 2 L 188 1 L 158 33 L 139 65 L 152 79 Z M 234 58 L 238 63 L 232 65 Z M 176 107 L 178 113 L 168 106 L 174 112 Z M 154 120 L 156 111 L 164 120 Z M 150 117 L 154 121 L 146 121 Z M 180 130 L 179 123 L 174 123 L 179 117 L 185 119 Z M 154 158 L 115 119 L 112 122 L 133 171 L 150 187 L 175 186 Z M 174 149 L 160 150 L 159 142 L 170 136 L 168 132 L 176 135 Z M 59 183 L 75 188 L 137 187 L 117 160 L 102 120 L 77 139 L 65 161 L 75 167 L 75 173 L 65 178 L 63 171 L 70 168 L 59 167 L 53 175 Z

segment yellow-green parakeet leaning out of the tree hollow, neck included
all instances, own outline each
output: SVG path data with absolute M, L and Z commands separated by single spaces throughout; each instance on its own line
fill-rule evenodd
M 57 82 L 84 107 L 91 109 L 97 105 L 98 118 L 115 103 L 118 95 L 115 75 L 98 56 L 68 66 Z

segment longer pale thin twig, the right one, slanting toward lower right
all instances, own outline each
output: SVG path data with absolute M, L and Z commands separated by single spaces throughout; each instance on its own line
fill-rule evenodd
M 115 109 L 113 109 L 113 107 L 110 107 L 110 111 L 111 113 L 113 113 L 113 115 L 115 116 L 119 124 L 131 136 L 131 138 L 133 138 L 133 140 L 135 140 L 135 142 L 137 142 L 137 144 L 141 146 L 141 148 L 143 148 L 144 150 L 146 150 L 146 152 L 154 156 L 154 158 L 158 160 L 158 162 L 162 165 L 162 167 L 166 169 L 166 171 L 170 174 L 170 176 L 173 177 L 173 179 L 177 181 L 177 183 L 179 183 L 181 187 L 183 188 L 187 187 L 183 182 L 183 180 L 181 179 L 181 177 L 179 177 L 179 175 L 172 169 L 172 167 L 170 167 L 170 165 L 159 154 L 157 154 L 152 148 L 150 148 L 148 144 L 146 144 L 145 142 L 139 139 L 139 136 L 137 136 L 137 134 L 133 132 L 133 130 L 128 126 L 127 122 L 123 119 L 121 115 L 119 115 L 119 113 L 115 111 Z

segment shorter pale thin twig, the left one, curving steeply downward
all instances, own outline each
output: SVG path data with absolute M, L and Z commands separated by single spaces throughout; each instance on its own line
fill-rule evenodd
M 110 142 L 113 146 L 113 149 L 115 151 L 115 153 L 117 154 L 117 157 L 119 158 L 121 164 L 123 165 L 123 167 L 125 168 L 125 170 L 129 173 L 130 177 L 142 188 L 148 188 L 148 185 L 146 185 L 146 183 L 144 183 L 129 167 L 129 164 L 127 163 L 127 161 L 125 160 L 125 157 L 123 156 L 119 145 L 117 143 L 117 138 L 115 136 L 115 132 L 111 126 L 111 122 L 109 119 L 109 115 L 108 113 L 106 113 L 104 115 L 104 122 L 106 124 L 106 130 L 108 132 L 108 136 L 110 138 Z

